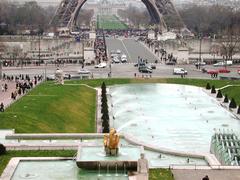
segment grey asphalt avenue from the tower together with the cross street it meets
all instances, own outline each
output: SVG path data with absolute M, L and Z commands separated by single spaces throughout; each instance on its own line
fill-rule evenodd
M 112 77 L 134 77 L 136 73 L 137 76 L 142 77 L 142 74 L 138 72 L 137 67 L 134 67 L 134 64 L 137 62 L 138 56 L 143 59 L 148 59 L 149 63 L 153 63 L 156 60 L 155 55 L 150 52 L 145 46 L 140 44 L 139 42 L 133 39 L 106 39 L 107 48 L 110 52 L 111 50 L 120 49 L 122 53 L 128 56 L 128 63 L 126 64 L 111 64 L 111 71 Z M 173 75 L 173 69 L 175 67 L 182 67 L 188 71 L 188 78 L 201 78 L 207 79 L 211 78 L 211 76 L 207 73 L 202 73 L 201 71 L 197 70 L 194 65 L 175 65 L 169 66 L 165 64 L 158 63 L 156 64 L 156 70 L 153 71 L 152 77 L 163 77 L 163 78 L 173 78 L 173 77 L 180 77 L 179 75 Z M 233 72 L 234 76 L 237 75 L 237 66 L 231 66 L 229 69 Z M 64 65 L 60 67 L 65 73 L 76 74 L 78 70 L 81 69 L 81 65 Z M 216 69 L 213 66 L 206 66 L 206 69 Z M 220 69 L 218 67 L 217 69 Z M 110 64 L 107 68 L 104 69 L 95 69 L 94 66 L 86 66 L 85 69 L 91 71 L 94 75 L 94 78 L 106 78 L 108 77 L 108 73 L 110 72 Z M 239 68 L 240 69 L 240 68 Z M 47 66 L 46 67 L 46 74 L 54 74 L 56 71 L 55 66 Z M 4 68 L 3 72 L 8 75 L 14 74 L 45 74 L 45 66 L 34 67 L 34 68 Z

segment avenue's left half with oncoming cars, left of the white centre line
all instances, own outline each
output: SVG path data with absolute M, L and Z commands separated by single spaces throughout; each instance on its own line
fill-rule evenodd
M 127 55 L 127 59 L 131 59 L 129 57 L 129 54 L 127 52 L 127 50 L 125 49 L 125 47 L 123 46 L 123 43 L 121 42 L 121 40 L 119 39 L 113 39 L 113 38 L 107 38 L 106 39 L 106 45 L 107 45 L 107 49 L 108 49 L 108 55 L 110 57 L 110 52 L 111 51 L 117 51 L 118 49 L 121 50 L 121 54 L 125 54 Z

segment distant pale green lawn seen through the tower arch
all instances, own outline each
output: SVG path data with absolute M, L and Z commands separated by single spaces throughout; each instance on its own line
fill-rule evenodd
M 125 30 L 127 25 L 121 22 L 117 16 L 114 15 L 101 15 L 97 17 L 98 29 L 107 30 Z

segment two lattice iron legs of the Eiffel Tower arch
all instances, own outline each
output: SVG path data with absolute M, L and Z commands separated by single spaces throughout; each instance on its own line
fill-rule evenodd
M 50 24 L 57 27 L 67 27 L 72 30 L 76 26 L 79 11 L 87 0 L 62 0 Z M 171 0 L 142 0 L 146 6 L 152 23 L 156 24 L 160 31 L 166 31 L 168 26 L 165 16 L 174 16 L 181 28 L 185 28 L 178 11 Z

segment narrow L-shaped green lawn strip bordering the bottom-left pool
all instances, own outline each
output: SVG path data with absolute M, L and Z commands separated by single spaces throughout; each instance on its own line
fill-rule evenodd
M 13 157 L 73 157 L 76 151 L 8 151 L 0 156 L 0 176 Z

